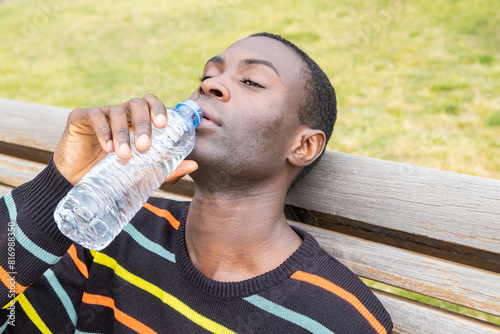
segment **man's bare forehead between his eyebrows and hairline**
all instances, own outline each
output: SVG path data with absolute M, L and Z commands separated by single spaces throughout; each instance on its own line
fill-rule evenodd
M 269 62 L 285 81 L 295 82 L 303 65 L 290 47 L 269 37 L 248 37 L 233 43 L 219 54 L 225 63 L 238 63 L 245 59 Z

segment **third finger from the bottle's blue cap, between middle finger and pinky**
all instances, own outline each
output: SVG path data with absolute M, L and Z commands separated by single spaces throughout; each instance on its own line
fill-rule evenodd
M 132 154 L 128 131 L 128 115 L 122 106 L 112 106 L 109 109 L 109 124 L 113 135 L 113 145 L 120 159 L 128 159 Z

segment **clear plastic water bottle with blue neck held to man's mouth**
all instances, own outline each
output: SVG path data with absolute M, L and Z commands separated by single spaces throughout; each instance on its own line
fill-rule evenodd
M 85 248 L 101 250 L 141 209 L 153 192 L 192 151 L 195 127 L 202 111 L 192 100 L 167 108 L 168 125 L 152 125 L 152 145 L 137 151 L 130 134 L 132 157 L 110 153 L 92 168 L 59 202 L 57 226 Z

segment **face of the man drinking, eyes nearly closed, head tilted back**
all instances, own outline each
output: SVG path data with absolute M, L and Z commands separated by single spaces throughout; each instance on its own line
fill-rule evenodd
M 302 66 L 295 52 L 267 37 L 240 40 L 207 62 L 190 97 L 204 113 L 189 156 L 200 165 L 197 183 L 200 172 L 212 182 L 252 183 L 283 171 L 299 126 Z

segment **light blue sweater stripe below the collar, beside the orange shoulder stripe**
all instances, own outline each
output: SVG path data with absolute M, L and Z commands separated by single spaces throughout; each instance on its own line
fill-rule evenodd
M 295 311 L 287 309 L 286 307 L 273 303 L 272 301 L 267 300 L 261 296 L 252 295 L 249 297 L 245 297 L 243 299 L 253 304 L 254 306 L 257 306 L 258 308 L 263 309 L 264 311 L 267 311 L 271 314 L 274 314 L 277 317 L 280 317 L 281 319 L 284 319 L 304 329 L 307 329 L 311 333 L 334 334 L 331 330 L 329 330 L 319 322 L 309 317 L 306 317 L 303 314 L 297 313 Z

